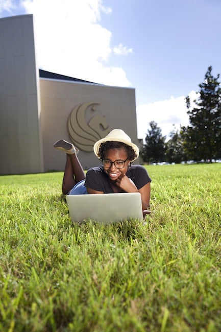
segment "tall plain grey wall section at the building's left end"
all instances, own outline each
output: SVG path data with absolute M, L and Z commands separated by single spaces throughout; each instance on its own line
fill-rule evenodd
M 32 15 L 0 19 L 0 174 L 43 171 Z

